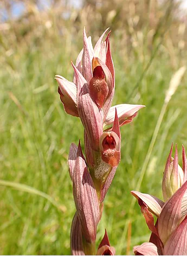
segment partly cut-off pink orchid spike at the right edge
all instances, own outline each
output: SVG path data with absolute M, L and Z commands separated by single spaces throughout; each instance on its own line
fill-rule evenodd
M 136 255 L 186 255 L 187 254 L 187 161 L 183 147 L 183 168 L 175 158 L 167 158 L 163 177 L 165 203 L 157 197 L 131 191 L 138 199 L 147 226 L 152 234 L 150 242 L 134 247 Z M 157 222 L 154 225 L 154 214 Z

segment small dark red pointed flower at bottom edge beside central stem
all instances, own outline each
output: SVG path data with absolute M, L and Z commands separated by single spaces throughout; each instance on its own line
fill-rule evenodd
M 108 235 L 105 229 L 105 235 L 98 247 L 97 255 L 115 255 L 115 249 L 109 244 Z

